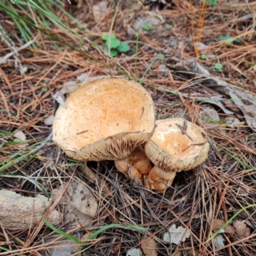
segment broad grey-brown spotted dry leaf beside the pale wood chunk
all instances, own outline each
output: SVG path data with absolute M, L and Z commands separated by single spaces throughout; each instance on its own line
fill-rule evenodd
M 66 184 L 53 189 L 51 197 L 60 196 Z M 97 201 L 92 192 L 79 180 L 72 180 L 60 199 L 59 205 L 64 208 L 63 218 L 68 227 L 80 227 L 92 220 L 97 212 Z

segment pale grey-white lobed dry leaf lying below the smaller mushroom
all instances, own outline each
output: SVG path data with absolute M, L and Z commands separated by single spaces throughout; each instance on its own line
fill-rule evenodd
M 187 228 L 177 227 L 173 224 L 169 228 L 169 232 L 164 233 L 163 240 L 173 244 L 179 244 L 180 241 L 184 242 L 190 236 Z

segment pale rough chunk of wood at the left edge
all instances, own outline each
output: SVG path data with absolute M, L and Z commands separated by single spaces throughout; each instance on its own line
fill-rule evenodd
M 24 229 L 35 226 L 51 201 L 42 195 L 28 197 L 7 189 L 0 190 L 0 220 L 4 228 Z M 47 218 L 52 225 L 61 223 L 58 211 L 52 211 Z

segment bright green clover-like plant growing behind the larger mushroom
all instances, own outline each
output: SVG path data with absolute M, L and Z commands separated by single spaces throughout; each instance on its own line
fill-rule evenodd
M 115 57 L 118 54 L 118 52 L 130 51 L 129 44 L 126 42 L 121 42 L 120 40 L 116 39 L 115 35 L 104 34 L 101 36 L 101 38 L 105 41 L 106 44 L 104 51 L 108 53 L 110 49 L 111 57 Z

